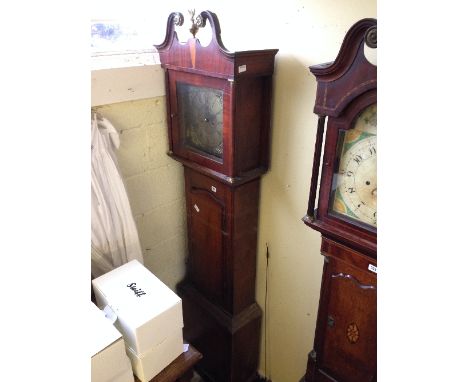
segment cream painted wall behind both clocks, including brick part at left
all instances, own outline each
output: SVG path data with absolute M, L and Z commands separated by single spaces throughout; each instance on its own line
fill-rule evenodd
M 266 317 L 260 371 L 273 382 L 297 382 L 312 349 L 323 267 L 320 235 L 301 221 L 307 209 L 317 124 L 316 82 L 308 67 L 334 60 L 351 25 L 376 17 L 376 1 L 173 1 L 170 7 L 158 5 L 165 9 L 151 15 L 155 43 L 164 38 L 170 11 L 184 12 L 193 6 L 218 15 L 229 50 L 279 49 L 271 170 L 262 180 L 260 201 L 257 301 Z M 110 12 L 118 14 L 118 9 Z M 105 106 L 102 113 L 122 130 L 119 160 L 146 250 L 145 262 L 173 287 L 183 274 L 185 212 L 181 167 L 165 156 L 163 105 L 164 98 L 132 101 Z

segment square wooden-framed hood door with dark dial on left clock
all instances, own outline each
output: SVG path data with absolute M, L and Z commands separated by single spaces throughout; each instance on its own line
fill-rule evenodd
M 232 163 L 229 84 L 221 78 L 169 73 L 171 150 L 178 157 L 228 175 Z

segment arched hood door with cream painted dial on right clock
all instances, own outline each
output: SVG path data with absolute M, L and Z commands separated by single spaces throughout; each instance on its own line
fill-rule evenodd
M 352 102 L 340 117 L 328 118 L 318 208 L 310 223 L 373 257 L 377 251 L 377 133 L 376 127 L 365 132 L 352 129 L 360 117 L 376 112 L 376 104 L 373 90 Z

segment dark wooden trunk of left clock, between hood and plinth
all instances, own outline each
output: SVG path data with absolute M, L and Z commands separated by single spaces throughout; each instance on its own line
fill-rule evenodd
M 187 278 L 205 297 L 237 314 L 255 302 L 260 181 L 232 187 L 185 168 L 185 188 Z

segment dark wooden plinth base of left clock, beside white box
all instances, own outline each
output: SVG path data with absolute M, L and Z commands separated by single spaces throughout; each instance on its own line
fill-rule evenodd
M 262 316 L 258 304 L 231 315 L 189 282 L 180 283 L 177 292 L 183 304 L 184 338 L 203 354 L 197 372 L 210 382 L 256 381 Z

